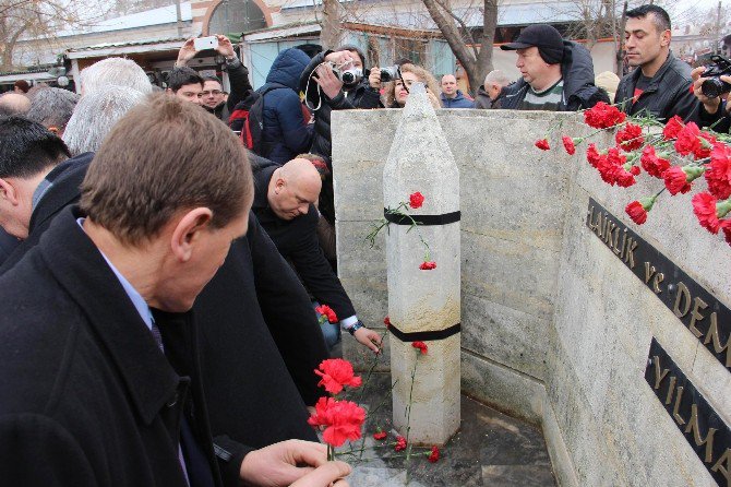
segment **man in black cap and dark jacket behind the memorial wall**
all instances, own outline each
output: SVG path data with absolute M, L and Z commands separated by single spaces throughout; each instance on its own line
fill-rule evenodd
M 582 45 L 564 40 L 550 25 L 523 29 L 513 43 L 500 46 L 515 50 L 522 80 L 503 88 L 501 108 L 517 110 L 574 111 L 609 103 L 606 92 L 594 84 L 591 55 Z

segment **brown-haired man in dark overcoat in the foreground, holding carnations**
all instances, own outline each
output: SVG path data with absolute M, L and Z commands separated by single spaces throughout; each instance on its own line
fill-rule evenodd
M 172 97 L 115 128 L 81 212 L 62 211 L 0 277 L 3 482 L 324 486 L 348 473 L 311 442 L 214 450 L 188 310 L 247 231 L 249 171 L 230 131 Z

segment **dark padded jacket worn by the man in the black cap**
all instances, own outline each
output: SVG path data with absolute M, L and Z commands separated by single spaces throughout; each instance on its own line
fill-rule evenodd
M 591 108 L 599 102 L 610 103 L 607 92 L 594 84 L 594 61 L 589 50 L 573 40 L 564 40 L 563 46 L 563 98 L 558 111 L 576 111 Z M 519 109 L 529 87 L 524 79 L 505 86 L 501 93 L 500 108 Z

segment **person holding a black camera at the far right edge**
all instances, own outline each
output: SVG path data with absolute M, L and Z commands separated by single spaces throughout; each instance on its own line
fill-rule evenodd
M 721 58 L 723 59 L 723 58 Z M 729 104 L 729 91 L 731 91 L 731 61 L 723 60 L 728 72 L 718 64 L 711 67 L 699 67 L 691 73 L 693 76 L 693 93 L 700 102 L 700 126 L 711 127 L 717 132 L 731 131 L 731 104 Z M 724 72 L 724 74 L 720 74 Z

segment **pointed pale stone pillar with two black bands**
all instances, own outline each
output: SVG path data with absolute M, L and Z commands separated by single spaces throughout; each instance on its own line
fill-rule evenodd
M 423 205 L 408 209 L 417 228 L 386 215 L 394 426 L 411 443 L 443 444 L 460 419 L 459 170 L 420 83 L 411 86 L 383 169 L 384 204 L 395 209 L 417 191 Z M 420 269 L 420 236 L 436 269 Z M 415 341 L 427 344 L 426 355 Z

